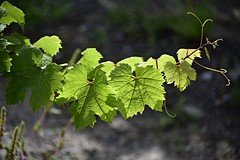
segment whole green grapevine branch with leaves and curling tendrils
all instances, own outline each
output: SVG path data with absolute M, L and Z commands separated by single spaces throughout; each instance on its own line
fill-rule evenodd
M 213 69 L 200 64 L 197 58 L 207 47 L 214 49 L 222 39 L 203 42 L 204 26 L 200 23 L 200 45 L 195 49 L 181 48 L 177 58 L 163 54 L 159 58 L 128 57 L 117 63 L 102 61 L 103 56 L 95 48 L 81 52 L 81 58 L 67 65 L 56 64 L 53 57 L 62 48 L 61 39 L 44 36 L 35 43 L 18 33 L 4 35 L 4 30 L 17 23 L 24 30 L 24 13 L 4 1 L 0 7 L 0 73 L 8 80 L 6 102 L 17 104 L 30 91 L 30 104 L 35 111 L 49 103 L 69 104 L 76 128 L 93 127 L 96 118 L 111 123 L 120 112 L 127 119 L 143 113 L 146 106 L 162 112 L 165 104 L 164 83 L 173 84 L 181 92 L 197 78 L 193 63 L 207 70 L 221 73 L 230 85 L 225 69 Z M 79 51 L 77 51 L 79 52 Z

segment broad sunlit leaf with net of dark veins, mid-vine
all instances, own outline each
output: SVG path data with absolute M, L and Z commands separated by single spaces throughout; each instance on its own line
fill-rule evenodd
M 159 70 L 148 67 L 137 67 L 133 75 L 128 64 L 120 64 L 111 72 L 110 85 L 114 88 L 119 100 L 116 106 L 124 118 L 132 117 L 144 111 L 144 106 L 162 111 L 164 100 L 164 79 Z M 120 102 L 120 103 L 117 103 Z

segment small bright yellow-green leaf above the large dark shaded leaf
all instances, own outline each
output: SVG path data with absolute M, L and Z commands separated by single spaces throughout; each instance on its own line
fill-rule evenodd
M 58 36 L 44 36 L 34 43 L 34 46 L 42 48 L 50 56 L 54 56 L 62 48 L 62 41 Z

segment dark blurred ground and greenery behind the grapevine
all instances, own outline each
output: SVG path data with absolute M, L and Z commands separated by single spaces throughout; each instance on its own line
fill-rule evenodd
M 117 62 L 130 56 L 158 58 L 175 56 L 179 48 L 197 48 L 200 24 L 210 41 L 223 38 L 199 62 L 225 68 L 231 79 L 198 66 L 198 78 L 180 93 L 166 86 L 167 107 L 171 118 L 149 109 L 142 115 L 124 120 L 118 116 L 112 124 L 98 121 L 94 128 L 74 130 L 65 136 L 65 145 L 56 159 L 76 160 L 237 160 L 240 159 L 240 1 L 239 0 L 9 0 L 26 15 L 24 35 L 32 43 L 45 35 L 58 35 L 63 49 L 57 63 L 68 62 L 76 48 L 97 48 L 103 61 Z M 12 30 L 22 32 L 13 26 Z M 4 83 L 1 105 L 5 105 Z M 8 127 L 25 120 L 25 135 L 39 118 L 27 100 L 18 107 L 9 106 Z M 27 115 L 27 116 L 26 116 Z M 58 132 L 70 118 L 68 107 L 50 112 L 41 132 L 36 135 L 29 154 L 48 159 L 58 141 Z

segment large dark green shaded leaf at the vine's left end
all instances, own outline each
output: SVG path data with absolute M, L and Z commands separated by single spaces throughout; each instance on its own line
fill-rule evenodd
M 11 79 L 7 86 L 6 101 L 16 104 L 25 98 L 26 90 L 31 91 L 30 104 L 33 110 L 53 101 L 54 92 L 62 83 L 61 69 L 56 64 L 41 69 L 42 52 L 31 45 L 18 50 L 12 57 Z

